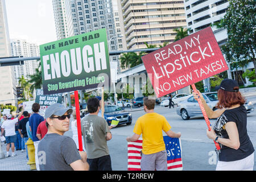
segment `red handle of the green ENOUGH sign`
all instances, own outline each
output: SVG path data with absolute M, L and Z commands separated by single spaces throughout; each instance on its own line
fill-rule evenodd
M 75 93 L 75 105 L 76 105 L 77 134 L 79 139 L 79 151 L 82 151 L 82 130 L 81 130 L 81 119 L 80 119 L 79 95 L 77 90 L 74 93 Z

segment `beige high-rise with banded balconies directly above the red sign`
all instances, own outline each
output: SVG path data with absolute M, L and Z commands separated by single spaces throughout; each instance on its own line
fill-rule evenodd
M 128 49 L 174 42 L 174 28 L 187 27 L 184 2 L 177 0 L 122 0 Z

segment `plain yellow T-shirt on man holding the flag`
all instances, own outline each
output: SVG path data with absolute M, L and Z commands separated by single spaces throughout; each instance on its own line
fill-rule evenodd
M 158 113 L 147 113 L 139 117 L 135 123 L 133 132 L 135 134 L 142 134 L 142 153 L 154 154 L 166 150 L 163 140 L 163 132 L 171 129 L 163 115 Z

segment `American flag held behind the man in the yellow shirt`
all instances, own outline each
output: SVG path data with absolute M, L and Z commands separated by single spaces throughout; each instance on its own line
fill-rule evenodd
M 183 169 L 183 163 L 180 138 L 164 136 L 163 139 L 166 144 L 168 171 L 181 171 Z M 128 171 L 141 171 L 142 138 L 139 138 L 135 142 L 128 142 L 127 150 Z

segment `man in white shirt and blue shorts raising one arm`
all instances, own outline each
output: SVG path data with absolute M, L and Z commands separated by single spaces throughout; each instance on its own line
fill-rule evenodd
M 6 139 L 6 157 L 9 157 L 9 150 L 10 150 L 10 143 L 11 143 L 11 156 L 14 157 L 16 156 L 14 152 L 14 142 L 16 140 L 16 132 L 15 132 L 15 123 L 19 121 L 19 118 L 22 116 L 24 111 L 24 107 L 20 114 L 18 115 L 17 118 L 11 119 L 11 114 L 7 115 L 7 120 L 3 123 L 2 125 L 2 131 L 1 131 L 1 136 L 3 135 L 3 131 L 5 130 L 5 139 Z

